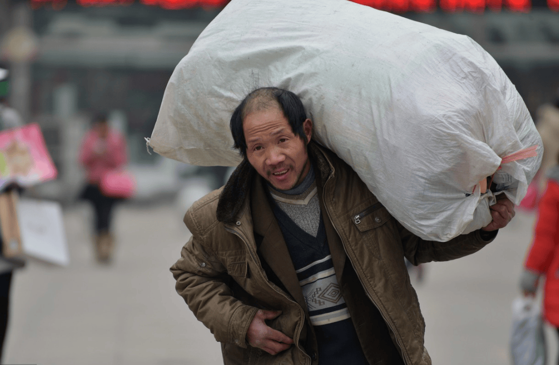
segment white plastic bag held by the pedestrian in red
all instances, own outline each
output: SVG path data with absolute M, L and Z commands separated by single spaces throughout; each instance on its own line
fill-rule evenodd
M 513 300 L 513 325 L 510 331 L 512 365 L 546 365 L 546 342 L 540 307 L 533 298 Z

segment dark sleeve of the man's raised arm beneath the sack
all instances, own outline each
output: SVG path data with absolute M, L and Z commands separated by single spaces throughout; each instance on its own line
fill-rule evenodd
M 482 238 L 481 230 L 459 235 L 447 242 L 428 241 L 419 238 L 397 223 L 404 255 L 414 265 L 431 261 L 449 261 L 476 253 L 495 239 Z

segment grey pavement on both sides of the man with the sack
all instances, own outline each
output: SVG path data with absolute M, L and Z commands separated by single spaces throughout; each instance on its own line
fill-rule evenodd
M 30 261 L 16 272 L 3 363 L 221 364 L 219 344 L 174 291 L 168 269 L 190 236 L 183 211 L 120 206 L 116 257 L 103 266 L 93 259 L 91 211 L 65 210 L 70 266 Z M 510 303 L 533 221 L 518 212 L 479 253 L 425 267 L 415 286 L 434 364 L 509 364 Z M 555 356 L 557 340 L 547 330 Z

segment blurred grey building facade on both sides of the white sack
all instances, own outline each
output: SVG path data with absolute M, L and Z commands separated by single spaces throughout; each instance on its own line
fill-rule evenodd
M 23 25 L 35 40 L 23 59 L 12 61 L 12 99 L 27 122 L 40 124 L 59 168 L 60 178 L 42 187 L 44 195 L 62 201 L 77 195 L 82 182 L 77 151 L 91 116 L 100 110 L 126 134 L 130 168 L 146 177 L 145 194 L 176 191 L 181 174 L 195 169 L 148 154 L 144 137 L 151 135 L 174 67 L 220 8 L 164 10 L 136 1 L 35 5 L 0 0 L 0 36 L 6 39 Z M 439 9 L 401 15 L 472 37 L 505 70 L 534 117 L 559 87 L 559 13 L 545 3 L 534 3 L 527 13 Z M 9 58 L 5 49 L 0 55 Z

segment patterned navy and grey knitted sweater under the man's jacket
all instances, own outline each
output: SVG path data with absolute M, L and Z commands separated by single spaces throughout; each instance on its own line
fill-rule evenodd
M 312 169 L 295 189 L 271 187 L 270 193 L 305 296 L 320 364 L 368 364 L 334 272 Z

